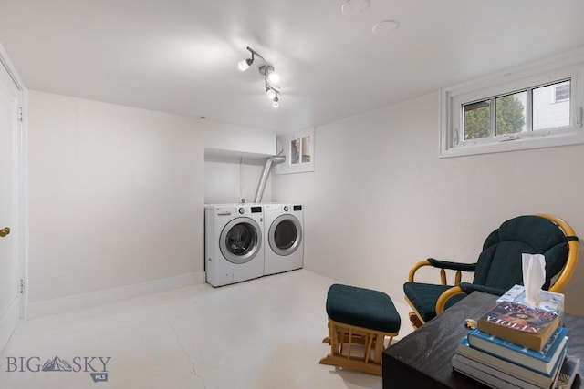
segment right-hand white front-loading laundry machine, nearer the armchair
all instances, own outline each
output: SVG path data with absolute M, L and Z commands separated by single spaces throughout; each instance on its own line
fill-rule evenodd
M 264 204 L 264 275 L 300 269 L 304 262 L 304 214 L 298 204 Z

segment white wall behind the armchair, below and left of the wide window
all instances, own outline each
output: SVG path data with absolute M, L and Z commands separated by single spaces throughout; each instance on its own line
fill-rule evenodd
M 584 146 L 455 159 L 438 149 L 437 93 L 316 128 L 315 171 L 272 184 L 276 201 L 305 205 L 305 268 L 403 301 L 414 261 L 475 261 L 517 215 L 556 214 L 584 238 Z M 565 290 L 580 315 L 582 281 L 580 263 Z

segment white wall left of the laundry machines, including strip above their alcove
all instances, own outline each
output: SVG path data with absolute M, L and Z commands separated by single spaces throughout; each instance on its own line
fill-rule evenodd
M 203 273 L 204 148 L 274 133 L 29 94 L 28 301 Z

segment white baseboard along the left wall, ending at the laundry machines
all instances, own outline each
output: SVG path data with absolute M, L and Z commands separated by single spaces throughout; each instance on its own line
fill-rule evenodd
M 204 280 L 204 272 L 195 272 L 161 280 L 120 286 L 103 291 L 76 294 L 40 302 L 29 302 L 26 319 L 35 319 L 48 314 L 78 310 L 108 302 L 117 302 L 156 292 L 166 292 L 185 286 L 197 285 L 203 283 Z

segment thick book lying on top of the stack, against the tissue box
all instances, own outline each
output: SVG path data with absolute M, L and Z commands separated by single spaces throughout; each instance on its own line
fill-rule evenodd
M 484 333 L 540 351 L 559 324 L 558 312 L 517 302 L 499 302 L 478 321 Z

